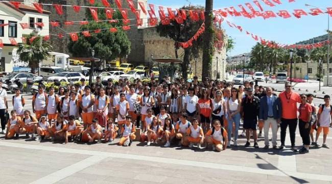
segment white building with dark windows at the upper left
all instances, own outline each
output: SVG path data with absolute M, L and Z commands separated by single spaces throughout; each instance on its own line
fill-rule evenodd
M 0 26 L 0 39 L 4 43 L 4 48 L 0 49 L 0 71 L 12 72 L 14 65 L 17 65 L 15 62 L 20 62 L 16 55 L 17 45 L 10 42 L 11 38 L 19 44 L 22 43 L 22 36 L 32 32 L 38 33 L 40 36 L 49 35 L 50 13 L 46 10 L 39 13 L 33 6 L 23 4 L 16 9 L 9 3 L 0 2 L 0 25 L 2 25 Z M 43 27 L 37 26 L 37 22 L 43 22 Z M 28 24 L 28 28 L 23 29 L 21 23 Z

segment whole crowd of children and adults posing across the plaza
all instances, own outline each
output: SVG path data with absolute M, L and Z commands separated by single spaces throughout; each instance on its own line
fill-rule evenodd
M 118 145 L 122 146 L 130 146 L 136 140 L 147 142 L 148 146 L 175 144 L 222 151 L 231 145 L 238 146 L 243 122 L 241 135 L 246 137 L 245 147 L 251 145 L 252 138 L 253 147 L 259 148 L 257 137 L 264 133 L 264 149 L 269 149 L 271 129 L 272 148 L 283 149 L 288 128 L 291 149 L 298 151 L 295 147 L 298 125 L 303 142 L 300 153 L 309 152 L 310 145 L 319 147 L 321 132 L 322 147 L 329 148 L 326 136 L 331 124 L 330 97 L 326 95 L 325 103 L 316 106 L 313 95 L 299 95 L 292 91 L 290 83 L 278 96 L 272 87 L 253 82 L 234 87 L 226 81 L 209 78 L 198 81 L 197 77 L 191 82 L 184 79 L 171 82 L 167 77 L 160 82 L 151 78 L 149 82 L 120 79 L 113 83 L 109 79 L 105 86 L 97 77 L 97 82 L 90 85 L 82 79 L 81 83 L 60 86 L 57 93 L 50 87 L 49 94 L 40 84 L 32 98 L 32 112 L 25 110 L 25 98 L 16 89 L 13 109 L 6 118 L 8 100 L 6 89 L 0 88 L 1 127 L 6 139 L 31 134 L 32 139 L 39 141 L 113 143 L 119 138 Z

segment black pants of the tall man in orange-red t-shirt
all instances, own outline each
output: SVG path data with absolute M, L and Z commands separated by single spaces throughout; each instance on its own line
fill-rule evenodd
M 286 139 L 286 130 L 289 127 L 289 134 L 291 137 L 292 147 L 295 146 L 295 131 L 297 127 L 297 119 L 281 119 L 280 124 L 280 139 L 281 145 L 284 145 L 284 140 Z

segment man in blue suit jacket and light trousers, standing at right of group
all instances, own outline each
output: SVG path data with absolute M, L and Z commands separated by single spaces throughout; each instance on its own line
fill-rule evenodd
M 259 122 L 264 123 L 264 149 L 269 149 L 269 128 L 272 127 L 272 146 L 277 149 L 277 131 L 281 118 L 281 103 L 277 96 L 273 95 L 272 87 L 266 88 L 266 96 L 260 99 Z

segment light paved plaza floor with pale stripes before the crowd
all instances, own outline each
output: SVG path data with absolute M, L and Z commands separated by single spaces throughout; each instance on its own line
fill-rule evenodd
M 30 105 L 31 96 L 26 99 Z M 240 146 L 214 152 L 139 142 L 121 147 L 118 139 L 114 144 L 39 143 L 24 136 L 4 140 L 0 135 L 0 183 L 332 183 L 330 149 L 264 150 L 262 138 L 259 149 L 244 148 L 240 136 Z M 302 145 L 298 131 L 296 145 Z

